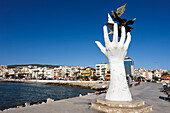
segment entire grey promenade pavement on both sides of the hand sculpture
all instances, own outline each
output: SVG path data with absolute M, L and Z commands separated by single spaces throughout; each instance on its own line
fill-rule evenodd
M 160 99 L 159 97 L 167 97 L 160 92 L 162 84 L 141 83 L 138 86 L 130 88 L 133 99 L 143 100 L 147 105 L 153 106 L 151 113 L 170 113 L 170 102 Z M 90 107 L 91 102 L 96 99 L 104 98 L 102 95 L 86 95 L 70 99 L 63 99 L 51 103 L 35 105 L 19 109 L 11 109 L 2 113 L 99 113 Z

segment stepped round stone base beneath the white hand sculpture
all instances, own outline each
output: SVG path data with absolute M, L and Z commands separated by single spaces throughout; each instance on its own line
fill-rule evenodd
M 91 107 L 106 113 L 146 113 L 152 111 L 152 106 L 146 106 L 144 101 L 115 102 L 106 99 L 97 100 Z

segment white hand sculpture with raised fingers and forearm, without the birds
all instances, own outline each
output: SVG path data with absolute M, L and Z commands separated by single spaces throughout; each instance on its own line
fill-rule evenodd
M 121 39 L 118 42 L 118 26 L 114 23 L 113 41 L 109 40 L 107 26 L 104 30 L 104 47 L 99 41 L 95 41 L 102 53 L 107 57 L 110 64 L 110 86 L 106 94 L 106 99 L 112 101 L 132 101 L 132 96 L 126 80 L 126 73 L 124 67 L 124 58 L 127 54 L 127 49 L 131 41 L 130 32 L 127 33 L 127 40 L 125 41 L 125 27 L 122 27 Z

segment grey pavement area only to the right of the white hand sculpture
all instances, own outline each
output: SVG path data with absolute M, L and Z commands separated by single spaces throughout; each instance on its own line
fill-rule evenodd
M 160 99 L 160 97 L 167 97 L 166 94 L 160 92 L 160 88 L 162 88 L 162 84 L 141 83 L 130 90 L 133 99 L 144 100 L 146 105 L 152 105 L 151 113 L 170 113 L 170 102 Z

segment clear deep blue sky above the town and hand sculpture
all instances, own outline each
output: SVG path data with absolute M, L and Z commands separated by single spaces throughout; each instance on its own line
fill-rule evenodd
M 107 13 L 125 3 L 122 17 L 137 18 L 127 56 L 169 70 L 169 0 L 0 0 L 0 65 L 108 62 L 94 42 L 104 44 Z

